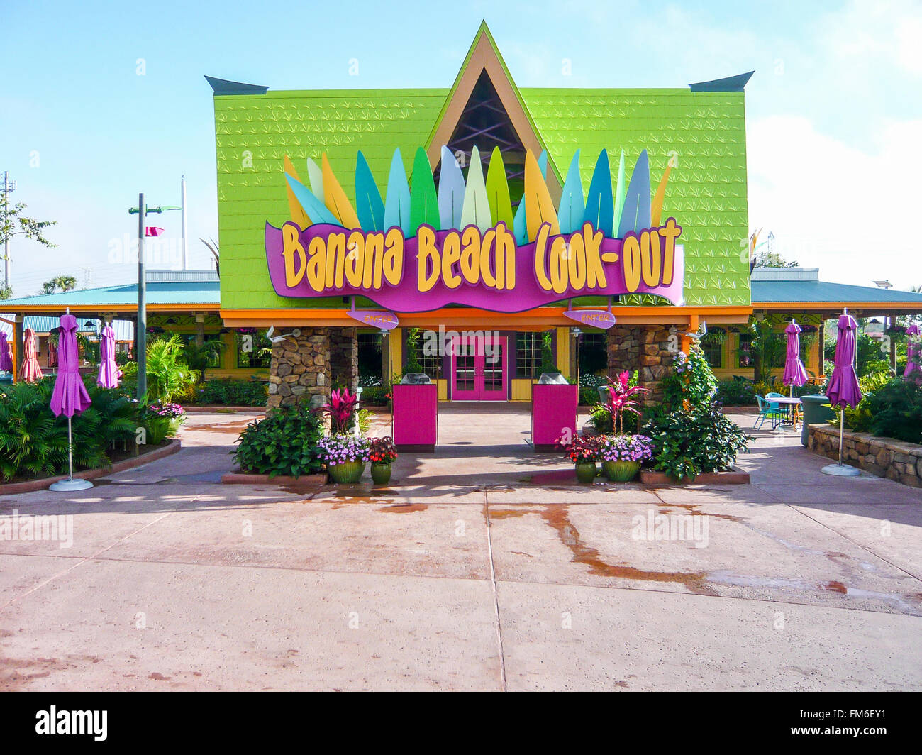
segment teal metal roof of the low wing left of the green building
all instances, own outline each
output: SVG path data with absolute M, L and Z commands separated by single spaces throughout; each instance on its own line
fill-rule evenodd
M 220 284 L 218 281 L 204 282 L 148 282 L 146 301 L 148 305 L 190 305 L 205 304 L 220 306 Z M 47 306 L 49 309 L 63 309 L 65 306 L 130 306 L 137 304 L 137 284 L 85 288 L 67 291 L 64 294 L 38 294 L 7 299 L 0 302 L 0 308 L 16 309 L 18 306 Z

